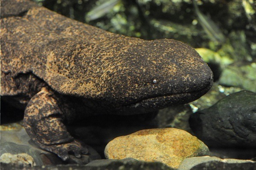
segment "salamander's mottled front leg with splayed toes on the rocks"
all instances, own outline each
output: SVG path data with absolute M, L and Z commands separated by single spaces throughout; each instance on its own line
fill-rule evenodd
M 69 153 L 80 158 L 81 154 L 88 153 L 88 149 L 68 133 L 63 124 L 64 118 L 56 96 L 42 88 L 26 106 L 24 127 L 36 144 L 56 153 L 63 161 L 69 159 Z

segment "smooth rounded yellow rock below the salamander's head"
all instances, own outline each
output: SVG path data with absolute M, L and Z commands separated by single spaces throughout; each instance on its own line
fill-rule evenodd
M 205 156 L 208 152 L 208 147 L 198 138 L 175 128 L 141 130 L 115 138 L 105 148 L 108 159 L 159 161 L 173 168 L 185 158 Z

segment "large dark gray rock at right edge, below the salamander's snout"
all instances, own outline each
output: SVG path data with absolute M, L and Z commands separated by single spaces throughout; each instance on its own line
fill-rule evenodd
M 209 147 L 256 147 L 256 93 L 230 94 L 192 114 L 190 127 Z

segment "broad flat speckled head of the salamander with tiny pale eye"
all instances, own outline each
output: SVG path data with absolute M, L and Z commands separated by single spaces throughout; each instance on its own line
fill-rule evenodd
M 189 103 L 212 86 L 212 71 L 187 44 L 138 41 L 121 50 L 102 81 L 106 105 L 127 114 Z

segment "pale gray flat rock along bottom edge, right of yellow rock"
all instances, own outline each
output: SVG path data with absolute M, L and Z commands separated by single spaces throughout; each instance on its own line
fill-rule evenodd
M 184 161 L 181 162 L 181 164 L 179 164 L 178 170 L 191 170 L 194 167 L 197 167 L 197 165 L 201 164 L 200 166 L 203 167 L 203 165 L 206 165 L 207 163 L 211 164 L 213 162 L 214 164 L 217 164 L 218 167 L 221 167 L 223 163 L 225 163 L 227 167 L 230 164 L 232 167 L 235 167 L 234 166 L 235 164 L 237 167 L 243 167 L 240 164 L 244 164 L 244 163 L 251 163 L 251 165 L 256 165 L 255 161 L 250 161 L 250 160 L 221 159 L 217 157 L 202 156 L 202 157 L 186 158 Z

